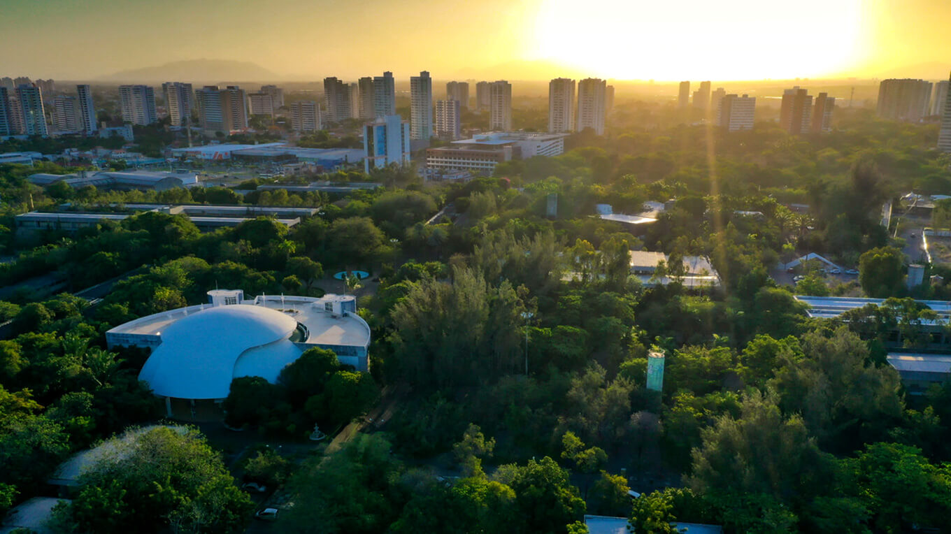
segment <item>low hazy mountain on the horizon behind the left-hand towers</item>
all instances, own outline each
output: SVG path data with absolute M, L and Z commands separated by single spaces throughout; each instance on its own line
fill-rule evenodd
M 194 59 L 175 61 L 159 67 L 122 70 L 100 78 L 104 82 L 267 82 L 281 78 L 274 72 L 247 61 Z

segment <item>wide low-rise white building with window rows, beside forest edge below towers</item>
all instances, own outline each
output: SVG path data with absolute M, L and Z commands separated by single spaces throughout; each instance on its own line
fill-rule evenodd
M 496 132 L 426 150 L 426 168 L 437 172 L 471 171 L 491 175 L 495 165 L 534 156 L 559 156 L 568 134 Z

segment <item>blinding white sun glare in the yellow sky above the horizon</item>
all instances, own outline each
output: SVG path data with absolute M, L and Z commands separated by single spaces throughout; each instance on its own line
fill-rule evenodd
M 612 79 L 819 77 L 864 49 L 861 0 L 544 0 L 525 55 Z

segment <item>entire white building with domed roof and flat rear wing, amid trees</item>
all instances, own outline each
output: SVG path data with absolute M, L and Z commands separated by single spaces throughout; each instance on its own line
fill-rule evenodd
M 315 347 L 369 371 L 370 327 L 357 314 L 355 296 L 245 299 L 241 290 L 213 290 L 208 297 L 208 304 L 147 315 L 106 333 L 109 348 L 152 350 L 139 379 L 165 398 L 169 416 L 203 401 L 220 405 L 235 378 L 277 383 L 285 367 Z

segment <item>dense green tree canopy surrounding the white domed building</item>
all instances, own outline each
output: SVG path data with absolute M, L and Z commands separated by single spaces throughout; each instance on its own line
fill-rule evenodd
M 650 128 L 638 125 L 651 113 Z M 29 291 L 0 303 L 11 321 L 0 341 L 0 510 L 41 494 L 71 452 L 160 420 L 137 380 L 146 353 L 107 351 L 109 328 L 201 303 L 216 285 L 320 296 L 339 291 L 325 273 L 360 268 L 372 275 L 358 293 L 370 373 L 315 350 L 278 384 L 235 380 L 225 401 L 229 426 L 289 441 L 315 423 L 340 428 L 381 397 L 397 407 L 339 450 L 253 459 L 249 469 L 295 495 L 282 531 L 577 534 L 586 513 L 628 517 L 635 532 L 944 528 L 951 384 L 906 394 L 883 336 L 931 317 L 909 296 L 951 294 L 905 289 L 904 243 L 879 223 L 886 200 L 951 192 L 937 129 L 864 109 L 837 110 L 834 131 L 801 137 L 770 123 L 729 134 L 680 124 L 640 103 L 615 115 L 609 135 L 574 134 L 562 156 L 460 183 L 385 169 L 364 177 L 384 187 L 347 196 L 44 190 L 25 180 L 36 168 L 0 167 L 4 285 L 56 273 L 77 291 L 127 275 L 94 304 Z M 598 203 L 636 213 L 671 199 L 636 229 L 592 216 Z M 139 201 L 321 210 L 289 230 L 261 218 L 203 234 L 182 216 L 145 213 L 77 235 L 13 232 L 30 206 Z M 641 283 L 631 250 L 709 257 L 722 283 L 689 288 L 675 270 L 669 285 Z M 832 287 L 770 277 L 810 252 L 860 276 Z M 893 298 L 820 319 L 802 294 Z M 663 391 L 646 387 L 650 351 L 666 353 Z M 144 467 L 88 472 L 57 528 L 243 528 L 252 505 L 201 435 L 146 437 L 134 457 Z

